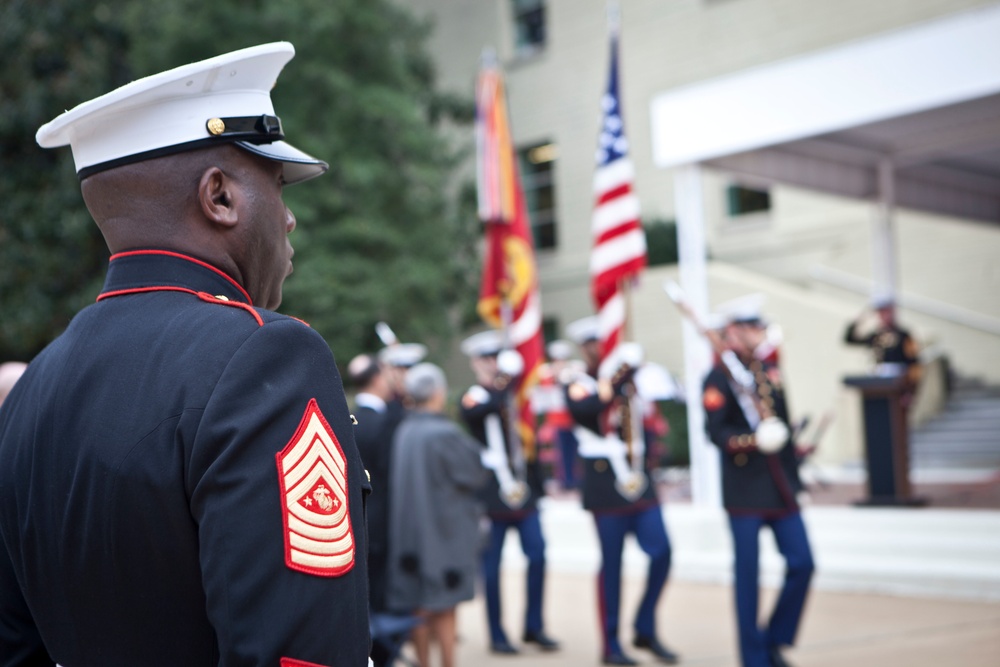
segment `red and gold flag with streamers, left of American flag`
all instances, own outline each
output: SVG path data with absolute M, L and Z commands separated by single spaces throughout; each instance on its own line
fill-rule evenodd
M 525 456 L 535 457 L 535 417 L 530 396 L 543 360 L 542 309 L 535 249 L 524 192 L 510 140 L 503 77 L 484 64 L 476 85 L 479 215 L 486 227 L 479 316 L 503 329 L 510 348 L 524 359 L 516 408 Z

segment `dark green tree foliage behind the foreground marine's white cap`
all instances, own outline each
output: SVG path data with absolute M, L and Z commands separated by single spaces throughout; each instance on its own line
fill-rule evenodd
M 444 345 L 473 303 L 478 225 L 468 197 L 449 195 L 460 155 L 441 131 L 471 121 L 471 91 L 435 91 L 429 28 L 391 1 L 24 0 L 0 23 L 14 58 L 0 74 L 0 359 L 57 335 L 107 258 L 69 151 L 40 149 L 37 128 L 131 79 L 277 40 L 297 52 L 272 91 L 278 115 L 330 163 L 285 193 L 298 227 L 282 311 L 344 362 L 377 345 L 378 320 Z

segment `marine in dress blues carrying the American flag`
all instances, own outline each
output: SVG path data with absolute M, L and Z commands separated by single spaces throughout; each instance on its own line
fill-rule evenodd
M 656 606 L 670 575 L 671 549 L 650 477 L 649 458 L 643 455 L 640 461 L 638 475 L 644 484 L 641 490 L 625 495 L 612 461 L 607 456 L 588 451 L 587 447 L 588 442 L 596 442 L 595 439 L 608 434 L 623 436 L 623 424 L 615 423 L 611 413 L 617 412 L 628 400 L 627 392 L 629 387 L 634 387 L 631 381 L 636 368 L 618 368 L 614 377 L 598 380 L 599 340 L 595 317 L 573 322 L 567 328 L 567 335 L 580 345 L 588 363 L 588 374 L 568 384 L 566 402 L 577 424 L 579 451 L 584 459 L 583 506 L 594 515 L 601 543 L 598 599 L 602 661 L 611 665 L 638 664 L 624 652 L 618 637 L 622 549 L 626 535 L 632 533 L 649 556 L 646 586 L 633 624 L 633 645 L 651 651 L 661 662 L 674 664 L 679 660 L 677 654 L 664 646 L 656 633 Z M 647 434 L 641 437 L 648 443 Z M 648 446 L 645 451 L 648 454 Z

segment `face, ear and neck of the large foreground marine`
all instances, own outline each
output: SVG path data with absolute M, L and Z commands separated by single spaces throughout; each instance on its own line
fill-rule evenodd
M 83 199 L 112 253 L 162 248 L 215 266 L 274 310 L 292 272 L 283 167 L 227 144 L 99 172 Z

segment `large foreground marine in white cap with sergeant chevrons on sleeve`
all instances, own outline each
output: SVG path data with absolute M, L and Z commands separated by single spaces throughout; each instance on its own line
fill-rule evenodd
M 290 44 L 142 79 L 69 143 L 112 251 L 0 410 L 0 665 L 368 664 L 368 482 L 291 270 Z

